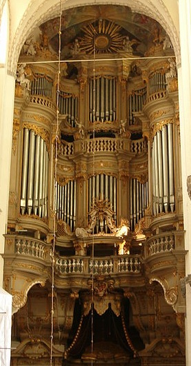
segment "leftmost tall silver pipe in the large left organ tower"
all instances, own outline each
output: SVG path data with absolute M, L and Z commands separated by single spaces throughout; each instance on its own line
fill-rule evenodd
M 28 168 L 28 149 L 29 149 L 29 130 L 24 129 L 23 136 L 23 166 L 22 166 L 22 185 L 21 185 L 21 214 L 25 213 L 27 198 L 27 168 Z

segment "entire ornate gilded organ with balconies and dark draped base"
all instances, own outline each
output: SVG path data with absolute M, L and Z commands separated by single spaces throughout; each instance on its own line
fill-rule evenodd
M 185 365 L 180 148 L 157 21 L 89 5 L 29 34 L 3 254 L 12 366 Z

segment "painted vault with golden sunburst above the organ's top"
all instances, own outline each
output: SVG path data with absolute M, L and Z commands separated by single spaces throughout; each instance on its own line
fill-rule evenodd
M 59 18 L 43 23 L 41 32 L 47 36 L 49 45 L 58 53 Z M 130 42 L 133 55 L 144 56 L 148 47 L 161 43 L 166 33 L 148 16 L 137 14 L 126 6 L 91 5 L 66 10 L 61 25 L 61 56 L 69 58 L 77 38 L 80 54 L 115 54 L 126 51 Z

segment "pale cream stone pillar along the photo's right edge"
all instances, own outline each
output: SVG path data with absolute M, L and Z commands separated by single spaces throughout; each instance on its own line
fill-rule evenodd
M 181 165 L 183 185 L 183 216 L 185 233 L 186 275 L 191 273 L 191 201 L 187 192 L 187 177 L 191 175 L 191 4 L 190 0 L 179 1 L 179 27 L 181 42 L 181 66 L 179 77 Z M 186 365 L 191 365 L 191 288 L 186 288 Z

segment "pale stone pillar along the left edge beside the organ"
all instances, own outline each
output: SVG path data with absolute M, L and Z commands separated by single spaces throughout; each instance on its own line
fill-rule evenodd
M 0 66 L 0 253 L 4 252 L 3 234 L 8 220 L 14 87 L 14 77 L 8 75 L 5 67 Z M 0 257 L 0 286 L 2 284 L 3 259 Z

